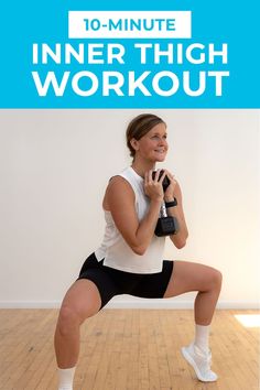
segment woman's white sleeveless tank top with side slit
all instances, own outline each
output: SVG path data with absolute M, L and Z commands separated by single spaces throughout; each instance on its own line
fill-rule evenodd
M 143 178 L 131 167 L 120 174 L 130 183 L 136 195 L 136 209 L 139 221 L 149 209 L 150 199 L 144 194 Z M 98 261 L 126 272 L 156 273 L 162 270 L 165 237 L 153 236 L 144 254 L 139 256 L 132 251 L 117 229 L 111 213 L 105 210 L 106 229 L 101 246 L 95 251 Z

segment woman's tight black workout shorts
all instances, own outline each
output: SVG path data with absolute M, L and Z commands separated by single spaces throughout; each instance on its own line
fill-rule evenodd
M 101 297 L 104 307 L 115 295 L 129 294 L 140 297 L 163 297 L 174 261 L 164 260 L 163 269 L 158 273 L 131 273 L 104 266 L 91 253 L 84 262 L 78 279 L 93 281 Z

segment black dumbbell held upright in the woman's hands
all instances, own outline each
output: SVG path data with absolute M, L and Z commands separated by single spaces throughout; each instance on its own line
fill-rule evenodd
M 152 172 L 153 180 L 155 178 L 155 173 L 156 173 L 155 171 Z M 162 176 L 162 174 L 163 174 L 163 171 L 160 172 L 159 180 Z M 170 178 L 166 175 L 163 180 L 163 183 L 162 183 L 164 192 L 169 185 L 170 185 Z M 158 224 L 156 224 L 154 232 L 158 237 L 163 237 L 163 236 L 176 235 L 177 231 L 178 231 L 177 218 L 172 217 L 172 216 L 167 216 L 165 203 L 163 202 L 161 205 L 161 209 L 160 209 L 160 218 L 158 219 Z

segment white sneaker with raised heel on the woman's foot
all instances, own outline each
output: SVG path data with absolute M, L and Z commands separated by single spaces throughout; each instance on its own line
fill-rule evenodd
M 212 354 L 205 354 L 193 343 L 182 348 L 182 354 L 184 358 L 194 368 L 197 378 L 202 382 L 215 382 L 218 376 L 210 370 Z

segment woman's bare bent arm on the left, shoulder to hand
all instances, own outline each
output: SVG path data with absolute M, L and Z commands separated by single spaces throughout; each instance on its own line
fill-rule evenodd
M 136 212 L 134 193 L 130 184 L 121 176 L 110 181 L 106 192 L 106 205 L 111 212 L 115 224 L 129 247 L 143 254 L 151 242 L 163 201 L 162 180 L 159 173 L 152 180 L 152 171 L 144 177 L 144 192 L 150 197 L 150 207 L 144 218 L 139 221 Z

